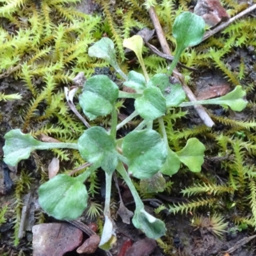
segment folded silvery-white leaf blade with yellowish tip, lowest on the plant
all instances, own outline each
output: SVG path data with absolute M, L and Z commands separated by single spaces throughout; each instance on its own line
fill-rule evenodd
M 113 221 L 108 216 L 105 216 L 105 223 L 100 239 L 99 248 L 101 248 L 102 250 L 110 250 L 115 243 L 116 234 Z

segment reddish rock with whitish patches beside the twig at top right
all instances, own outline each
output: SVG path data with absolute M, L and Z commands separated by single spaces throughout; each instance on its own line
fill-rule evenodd
M 198 0 L 194 13 L 201 16 L 205 23 L 211 27 L 230 18 L 219 0 Z

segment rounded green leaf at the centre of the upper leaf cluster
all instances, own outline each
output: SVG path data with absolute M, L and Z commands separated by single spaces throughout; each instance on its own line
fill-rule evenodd
M 154 120 L 164 115 L 166 100 L 159 88 L 150 87 L 143 90 L 143 95 L 135 100 L 136 111 L 145 120 Z

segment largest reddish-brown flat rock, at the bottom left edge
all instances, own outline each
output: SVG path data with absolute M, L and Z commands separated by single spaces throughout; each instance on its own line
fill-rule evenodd
M 83 232 L 68 223 L 39 224 L 32 232 L 33 256 L 62 256 L 83 241 Z

